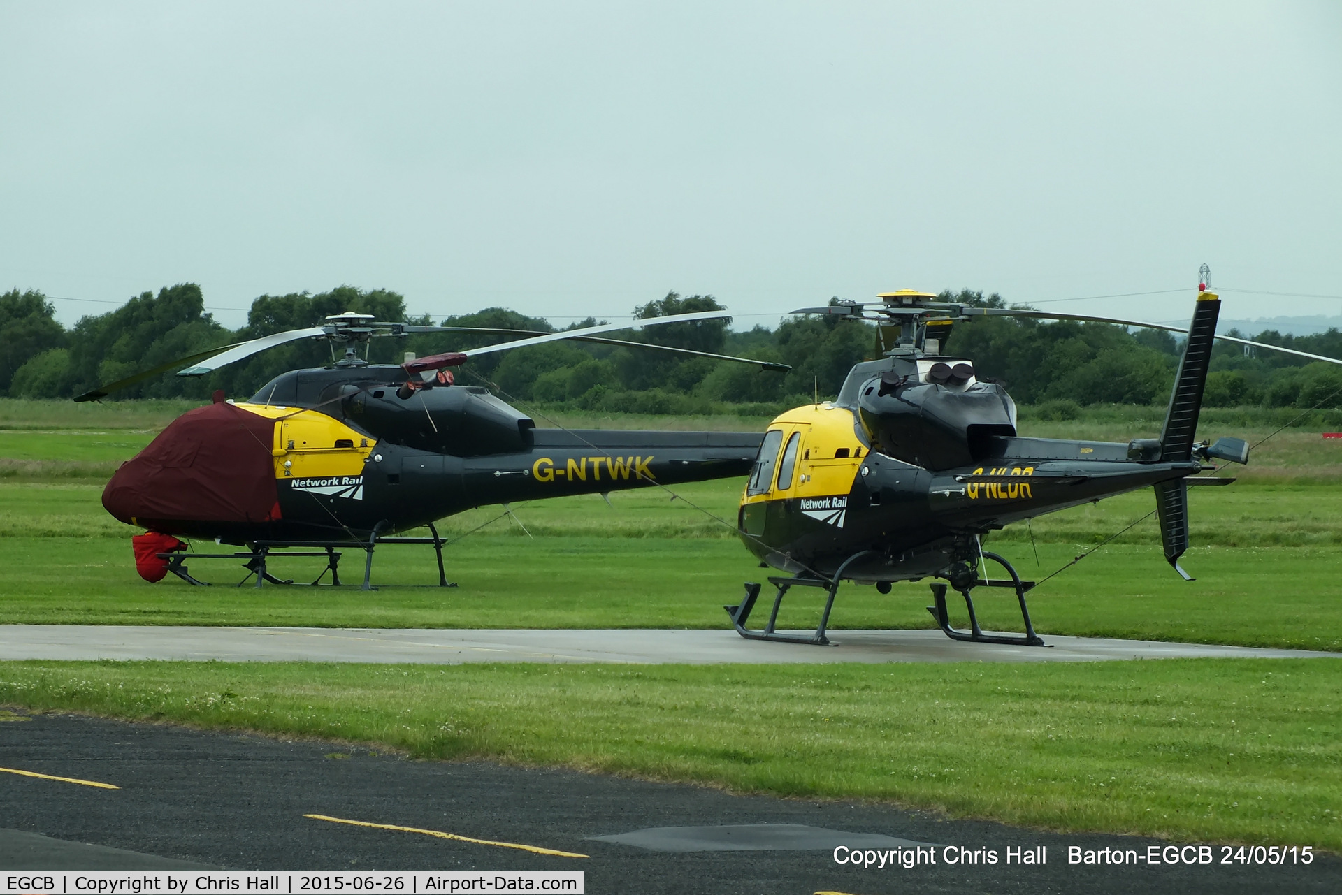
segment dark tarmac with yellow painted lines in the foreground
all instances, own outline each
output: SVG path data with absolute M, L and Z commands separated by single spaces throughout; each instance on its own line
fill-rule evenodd
M 0 772 L 0 870 L 582 870 L 589 892 L 650 895 L 1342 891 L 1342 860 L 1327 855 L 1307 867 L 1068 865 L 1070 845 L 1145 855 L 1165 843 L 74 715 L 0 723 L 0 768 L 117 786 Z M 913 870 L 837 865 L 832 848 L 845 839 L 935 843 L 939 857 Z M 947 865 L 946 845 L 996 849 L 998 864 Z M 1043 867 L 1002 863 L 1008 847 L 1039 845 Z

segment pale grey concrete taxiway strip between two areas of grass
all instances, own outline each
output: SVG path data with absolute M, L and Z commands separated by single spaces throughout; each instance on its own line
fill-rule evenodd
M 1189 657 L 1342 657 L 1335 652 L 1045 636 L 1048 647 L 962 643 L 939 631 L 833 631 L 839 645 L 745 640 L 734 631 L 454 631 L 0 625 L 3 659 L 220 662 L 1103 662 Z

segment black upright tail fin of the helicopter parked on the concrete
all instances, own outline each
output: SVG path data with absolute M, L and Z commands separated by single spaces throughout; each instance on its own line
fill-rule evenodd
M 1161 431 L 1161 460 L 1178 463 L 1193 459 L 1193 436 L 1197 433 L 1197 415 L 1202 408 L 1202 386 L 1212 362 L 1212 342 L 1216 337 L 1216 318 L 1221 313 L 1221 299 L 1216 293 L 1198 293 L 1193 309 L 1193 322 L 1188 327 L 1188 342 L 1174 377 L 1170 408 Z M 1188 550 L 1188 487 L 1182 479 L 1161 482 L 1155 486 L 1155 511 L 1161 521 L 1161 545 L 1165 560 L 1185 581 L 1193 578 L 1178 565 Z

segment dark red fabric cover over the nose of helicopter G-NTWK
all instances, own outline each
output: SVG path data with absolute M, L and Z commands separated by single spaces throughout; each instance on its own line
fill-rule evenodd
M 102 506 L 169 534 L 189 522 L 278 519 L 274 429 L 274 420 L 227 403 L 188 411 L 117 470 Z

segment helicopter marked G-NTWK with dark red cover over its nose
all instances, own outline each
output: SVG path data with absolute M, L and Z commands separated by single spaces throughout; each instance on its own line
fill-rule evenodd
M 613 330 L 729 318 L 725 310 L 604 323 L 431 357 L 369 364 L 370 339 L 417 333 L 517 330 L 378 323 L 369 314 L 334 314 L 321 326 L 289 330 L 169 361 L 75 397 L 91 401 L 170 369 L 204 376 L 276 345 L 327 339 L 344 357 L 325 368 L 290 370 L 246 401 L 215 393 L 212 404 L 173 420 L 123 463 L 103 488 L 103 507 L 148 529 L 134 538 L 137 570 L 149 581 L 169 572 L 188 584 L 188 560 L 243 560 L 246 582 L 293 584 L 267 562 L 279 556 L 326 557 L 340 584 L 340 549 L 366 551 L 372 589 L 380 543 L 432 543 L 440 586 L 447 581 L 435 522 L 482 505 L 651 484 L 739 476 L 758 452 L 757 432 L 637 432 L 537 428 L 531 417 L 483 386 L 456 385 L 452 368 L 472 357 L 558 339 L 674 352 L 752 364 L 782 364 L 603 337 Z M 365 357 L 358 356 L 360 346 Z M 427 526 L 432 537 L 397 537 Z M 178 535 L 244 547 L 185 553 Z M 295 547 L 306 550 L 294 550 Z

